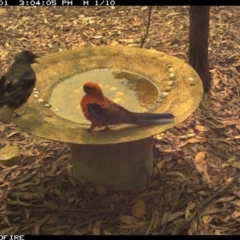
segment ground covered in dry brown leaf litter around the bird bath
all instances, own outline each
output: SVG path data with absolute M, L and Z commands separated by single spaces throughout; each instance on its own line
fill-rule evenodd
M 144 48 L 187 61 L 188 7 L 153 7 Z M 0 125 L 0 234 L 240 234 L 240 7 L 211 7 L 211 91 L 154 140 L 149 185 L 129 193 L 76 185 L 66 145 Z M 148 7 L 1 7 L 1 73 L 15 53 L 98 45 L 140 47 Z

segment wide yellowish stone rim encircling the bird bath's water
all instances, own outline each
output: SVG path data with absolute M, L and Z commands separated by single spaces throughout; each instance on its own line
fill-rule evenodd
M 122 69 L 146 76 L 160 89 L 169 81 L 169 65 L 174 68 L 175 86 L 155 111 L 171 112 L 174 123 L 164 125 L 121 125 L 109 131 L 85 130 L 89 125 L 76 123 L 58 116 L 32 95 L 25 114 L 14 119 L 14 123 L 26 132 L 50 140 L 89 145 L 108 145 L 149 138 L 185 120 L 199 105 L 202 84 L 197 73 L 185 62 L 156 50 L 123 46 L 87 47 L 46 55 L 34 64 L 37 89 L 42 99 L 49 101 L 59 81 L 81 72 L 94 69 Z M 188 79 L 193 79 L 190 84 Z M 87 82 L 87 81 L 86 81 Z M 95 81 L 97 83 L 97 79 Z M 192 83 L 192 81 L 191 81 Z M 79 99 L 80 101 L 80 99 Z

